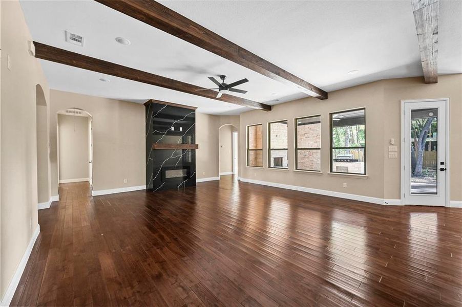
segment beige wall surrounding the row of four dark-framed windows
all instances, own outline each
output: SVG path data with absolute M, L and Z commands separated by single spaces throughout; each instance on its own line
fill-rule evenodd
M 305 98 L 286 102 L 273 106 L 272 111 L 250 111 L 241 114 L 240 137 L 241 137 L 241 177 L 246 179 L 261 180 L 282 183 L 295 186 L 310 187 L 315 189 L 332 190 L 338 192 L 360 194 L 366 196 L 383 197 L 383 121 L 379 119 L 383 115 L 383 86 L 379 83 L 369 83 L 352 87 L 344 91 L 329 93 L 328 100 Z M 367 166 L 368 178 L 345 177 L 327 174 L 329 172 L 329 112 L 340 111 L 349 108 L 366 107 L 366 116 L 370 118 L 366 122 L 367 134 L 367 159 L 376 161 Z M 293 119 L 301 116 L 321 114 L 321 170 L 319 173 L 293 171 L 294 165 L 294 138 Z M 288 120 L 288 170 L 268 169 L 268 138 L 267 122 Z M 246 125 L 263 123 L 263 168 L 246 166 L 245 131 Z M 369 124 L 373 123 L 373 124 Z M 242 143 L 244 140 L 244 143 Z M 348 183 L 348 188 L 343 188 L 343 183 Z

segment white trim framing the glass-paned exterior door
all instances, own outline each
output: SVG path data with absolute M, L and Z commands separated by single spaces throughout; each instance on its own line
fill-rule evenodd
M 450 127 L 450 118 L 449 118 L 449 98 L 435 98 L 435 99 L 406 99 L 401 100 L 401 204 L 406 205 L 405 200 L 405 181 L 406 181 L 406 171 L 404 169 L 406 157 L 405 157 L 405 148 L 404 148 L 404 137 L 405 137 L 405 117 L 404 117 L 404 107 L 405 103 L 413 103 L 413 102 L 444 102 L 446 108 L 445 114 L 445 167 L 447 170 L 445 171 L 445 207 L 449 207 L 450 204 L 450 155 L 449 155 L 449 145 L 450 145 L 450 138 L 449 138 L 449 127 Z

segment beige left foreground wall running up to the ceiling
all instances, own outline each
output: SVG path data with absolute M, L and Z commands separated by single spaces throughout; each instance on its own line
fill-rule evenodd
M 27 50 L 31 35 L 17 1 L 2 1 L 0 296 L 37 227 L 36 84 L 49 101 L 40 63 Z M 11 71 L 7 57 L 11 57 Z

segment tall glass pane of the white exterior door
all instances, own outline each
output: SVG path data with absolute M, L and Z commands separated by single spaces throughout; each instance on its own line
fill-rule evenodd
M 411 194 L 438 194 L 438 109 L 411 110 Z

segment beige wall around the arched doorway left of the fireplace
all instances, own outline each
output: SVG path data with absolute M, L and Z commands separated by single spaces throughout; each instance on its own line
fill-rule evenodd
M 74 107 L 93 120 L 93 190 L 145 185 L 144 105 L 56 90 L 50 91 L 50 100 L 53 195 L 58 187 L 56 114 Z

